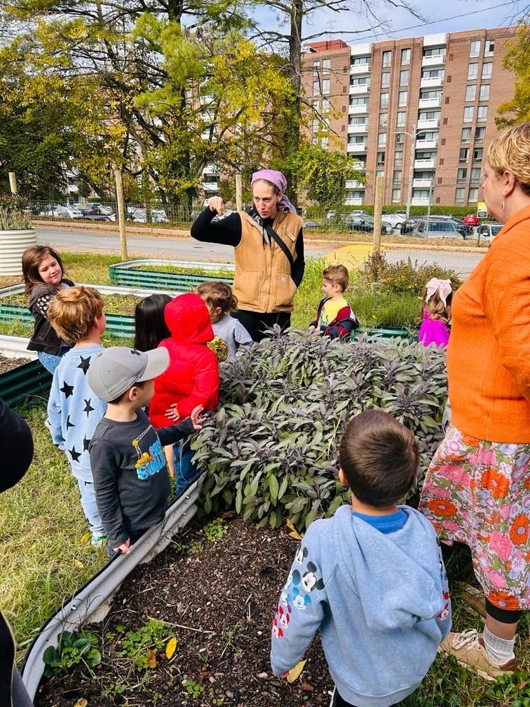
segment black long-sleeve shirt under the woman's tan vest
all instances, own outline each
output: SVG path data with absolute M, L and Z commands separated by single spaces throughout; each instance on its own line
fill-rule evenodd
M 192 223 L 192 238 L 200 240 L 201 243 L 219 243 L 220 245 L 232 245 L 233 247 L 240 245 L 242 236 L 240 214 L 234 211 L 232 214 L 225 216 L 225 218 L 212 223 L 212 219 L 216 215 L 214 211 L 210 211 L 208 208 L 201 211 Z M 267 226 L 272 226 L 274 219 L 266 218 L 264 223 Z M 296 259 L 290 275 L 297 288 L 300 287 L 302 282 L 304 270 L 304 234 L 302 228 L 300 228 L 296 238 Z

